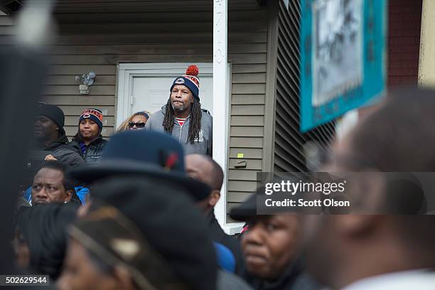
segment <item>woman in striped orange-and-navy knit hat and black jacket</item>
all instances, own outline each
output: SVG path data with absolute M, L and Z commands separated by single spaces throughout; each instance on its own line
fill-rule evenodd
M 87 164 L 100 162 L 100 157 L 107 144 L 101 135 L 102 112 L 100 109 L 85 109 L 79 119 L 79 129 L 70 146 L 79 149 Z

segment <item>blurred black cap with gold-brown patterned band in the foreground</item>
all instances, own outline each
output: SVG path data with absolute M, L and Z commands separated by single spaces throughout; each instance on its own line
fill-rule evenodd
M 75 222 L 85 235 L 70 234 L 102 261 L 116 266 L 121 260 L 131 279 L 138 282 L 143 276 L 152 289 L 181 289 L 178 283 L 168 285 L 168 270 L 186 286 L 182 289 L 215 289 L 216 252 L 207 219 L 186 190 L 154 179 L 116 176 L 92 188 L 92 198 L 89 213 Z M 140 289 L 151 289 L 142 285 Z

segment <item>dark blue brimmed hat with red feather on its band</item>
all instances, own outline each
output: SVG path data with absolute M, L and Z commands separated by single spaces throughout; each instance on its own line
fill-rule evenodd
M 185 188 L 195 201 L 205 200 L 210 187 L 186 176 L 181 144 L 168 134 L 148 130 L 112 136 L 99 164 L 70 171 L 70 176 L 92 183 L 111 176 L 146 176 Z

